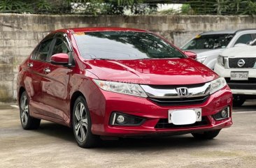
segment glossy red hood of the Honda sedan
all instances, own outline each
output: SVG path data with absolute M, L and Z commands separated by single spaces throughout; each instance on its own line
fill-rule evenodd
M 192 59 L 90 60 L 85 66 L 99 79 L 135 84 L 200 84 L 218 77 Z

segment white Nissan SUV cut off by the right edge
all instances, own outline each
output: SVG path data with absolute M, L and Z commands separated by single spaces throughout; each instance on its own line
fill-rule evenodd
M 250 45 L 225 49 L 218 56 L 214 71 L 225 77 L 234 96 L 234 106 L 256 98 L 256 40 Z

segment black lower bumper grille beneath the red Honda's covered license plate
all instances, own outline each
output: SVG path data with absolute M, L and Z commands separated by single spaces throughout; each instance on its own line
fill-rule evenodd
M 201 121 L 187 124 L 187 125 L 174 125 L 173 123 L 168 123 L 168 119 L 159 119 L 157 125 L 155 125 L 155 128 L 191 128 L 191 127 L 199 127 L 208 125 L 208 119 L 206 116 L 202 116 Z

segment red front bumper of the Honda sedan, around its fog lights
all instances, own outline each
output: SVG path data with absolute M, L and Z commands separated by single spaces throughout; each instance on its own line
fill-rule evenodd
M 160 106 L 148 98 L 139 98 L 120 93 L 112 93 L 99 89 L 97 96 L 99 103 L 88 104 L 92 118 L 92 133 L 96 135 L 128 137 L 143 135 L 182 135 L 190 132 L 201 132 L 227 128 L 232 125 L 231 114 L 228 119 L 215 121 L 213 114 L 220 112 L 225 107 L 230 107 L 232 112 L 232 93 L 228 86 L 213 93 L 199 105 Z M 101 93 L 101 96 L 99 94 Z M 100 100 L 99 100 L 100 99 Z M 98 107 L 97 107 L 98 106 Z M 169 109 L 201 108 L 202 117 L 207 120 L 206 125 L 182 125 L 180 127 L 157 128 L 160 119 L 168 119 Z M 121 112 L 138 116 L 145 121 L 139 126 L 111 125 L 110 118 L 113 112 Z

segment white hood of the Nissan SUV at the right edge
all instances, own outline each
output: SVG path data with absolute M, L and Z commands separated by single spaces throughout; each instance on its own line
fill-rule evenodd
M 221 53 L 222 56 L 230 56 L 230 57 L 255 57 L 256 56 L 256 46 L 245 45 L 241 47 L 232 47 L 229 49 L 225 49 L 224 52 Z

